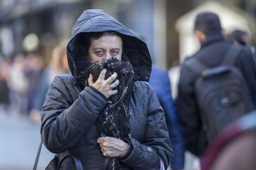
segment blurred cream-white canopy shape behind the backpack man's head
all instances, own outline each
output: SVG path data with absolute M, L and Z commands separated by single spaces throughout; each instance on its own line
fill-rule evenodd
M 179 53 L 180 62 L 187 56 L 191 56 L 199 48 L 199 43 L 193 32 L 194 20 L 199 12 L 215 12 L 219 17 L 222 28 L 230 33 L 234 29 L 242 29 L 250 34 L 249 18 L 237 9 L 231 9 L 214 1 L 207 1 L 199 7 L 181 16 L 176 22 L 176 29 L 179 32 Z

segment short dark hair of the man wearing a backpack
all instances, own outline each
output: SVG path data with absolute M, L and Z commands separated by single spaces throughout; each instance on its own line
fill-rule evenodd
M 212 12 L 201 12 L 196 16 L 194 30 L 199 30 L 206 36 L 213 33 L 221 33 L 220 18 Z

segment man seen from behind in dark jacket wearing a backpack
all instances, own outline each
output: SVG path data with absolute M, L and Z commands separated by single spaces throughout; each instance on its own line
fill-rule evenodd
M 194 32 L 201 48 L 182 64 L 176 104 L 186 149 L 202 156 L 225 126 L 255 109 L 256 75 L 252 55 L 225 40 L 216 14 L 198 14 Z

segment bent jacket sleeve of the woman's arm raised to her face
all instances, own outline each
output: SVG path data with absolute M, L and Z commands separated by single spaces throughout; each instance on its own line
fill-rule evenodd
M 41 111 L 41 140 L 52 153 L 75 146 L 107 103 L 93 88 L 86 87 L 76 99 L 72 99 L 72 91 L 74 85 L 56 77 L 46 95 Z

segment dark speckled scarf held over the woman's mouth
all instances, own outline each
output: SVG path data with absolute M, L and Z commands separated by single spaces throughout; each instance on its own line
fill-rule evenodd
M 116 79 L 119 80 L 119 85 L 115 87 L 115 89 L 118 90 L 118 93 L 108 98 L 108 103 L 97 117 L 95 122 L 97 129 L 100 133 L 109 137 L 116 137 L 119 139 L 130 138 L 130 99 L 134 86 L 134 72 L 130 62 L 110 58 L 108 60 L 99 60 L 90 63 L 88 67 L 86 67 L 86 70 L 81 72 L 80 76 L 77 77 L 77 81 L 80 81 L 80 84 L 83 83 L 85 86 L 89 86 L 89 74 L 93 75 L 93 82 L 95 82 L 103 68 L 106 68 L 107 70 L 105 80 L 116 72 L 118 75 Z M 111 158 L 108 169 L 124 170 L 130 168 L 120 163 L 117 158 Z

